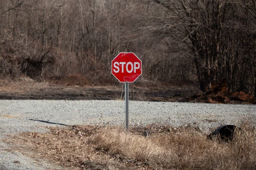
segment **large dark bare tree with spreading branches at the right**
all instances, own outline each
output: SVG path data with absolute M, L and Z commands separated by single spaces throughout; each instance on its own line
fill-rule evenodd
M 148 3 L 163 10 L 154 16 L 152 32 L 180 40 L 187 47 L 201 91 L 209 88 L 212 80 L 223 78 L 229 81 L 232 90 L 253 91 L 251 87 L 244 89 L 246 84 L 254 83 L 247 72 L 252 68 L 249 60 L 254 58 L 247 42 L 255 42 L 255 32 L 250 36 L 248 33 L 255 19 L 246 9 L 254 6 L 253 1 L 150 0 Z

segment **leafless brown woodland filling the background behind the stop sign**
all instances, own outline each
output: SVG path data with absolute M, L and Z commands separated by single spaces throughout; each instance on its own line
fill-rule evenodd
M 226 79 L 256 96 L 254 0 L 0 0 L 0 78 L 80 74 L 113 82 L 111 60 L 134 52 L 140 81 Z

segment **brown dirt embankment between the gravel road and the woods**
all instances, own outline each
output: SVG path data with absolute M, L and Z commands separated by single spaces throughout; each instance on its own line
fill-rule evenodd
M 211 82 L 205 92 L 196 94 L 196 91 L 194 85 L 135 82 L 130 83 L 129 97 L 138 101 L 256 104 L 256 98 L 243 91 L 230 92 L 225 79 Z M 81 75 L 43 82 L 36 82 L 27 77 L 0 80 L 0 99 L 122 100 L 124 94 L 123 84 L 97 85 Z

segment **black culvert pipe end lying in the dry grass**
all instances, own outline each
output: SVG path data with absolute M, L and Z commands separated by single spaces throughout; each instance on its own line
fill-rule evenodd
M 221 125 L 210 133 L 208 137 L 209 139 L 218 139 L 224 142 L 229 142 L 233 140 L 235 130 L 241 130 L 241 128 L 236 125 Z

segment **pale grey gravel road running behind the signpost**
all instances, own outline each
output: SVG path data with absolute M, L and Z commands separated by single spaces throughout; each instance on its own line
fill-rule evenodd
M 223 124 L 241 125 L 244 120 L 256 123 L 256 105 L 130 101 L 129 113 L 130 125 L 192 125 L 204 133 Z M 47 126 L 123 123 L 124 101 L 0 100 L 0 140 L 24 131 L 46 132 Z M 63 169 L 19 152 L 8 152 L 8 148 L 0 142 L 1 170 Z

